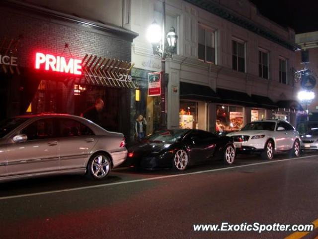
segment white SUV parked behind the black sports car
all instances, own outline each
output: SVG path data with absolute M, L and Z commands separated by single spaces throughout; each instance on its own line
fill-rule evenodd
M 264 159 L 275 153 L 289 152 L 300 155 L 300 136 L 286 120 L 257 120 L 246 124 L 240 131 L 227 134 L 235 143 L 237 152 L 259 152 Z

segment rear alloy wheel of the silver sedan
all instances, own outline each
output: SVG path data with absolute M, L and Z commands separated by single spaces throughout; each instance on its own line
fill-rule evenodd
M 87 172 L 93 179 L 106 178 L 111 170 L 111 162 L 107 155 L 103 153 L 97 153 L 91 156 L 88 165 Z

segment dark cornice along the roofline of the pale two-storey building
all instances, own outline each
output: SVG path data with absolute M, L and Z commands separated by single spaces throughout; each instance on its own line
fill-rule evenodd
M 189 2 L 197 7 L 200 7 L 210 13 L 213 13 L 215 15 L 218 15 L 232 23 L 235 23 L 251 32 L 254 32 L 257 35 L 260 35 L 268 40 L 271 40 L 289 50 L 296 51 L 299 50 L 300 47 L 293 42 L 290 42 L 288 40 L 285 40 L 277 34 L 275 34 L 270 29 L 263 27 L 259 24 L 256 24 L 252 22 L 251 20 L 240 16 L 239 14 L 236 14 L 232 11 L 229 11 L 228 9 L 220 6 L 216 2 L 212 0 L 185 0 L 186 2 Z

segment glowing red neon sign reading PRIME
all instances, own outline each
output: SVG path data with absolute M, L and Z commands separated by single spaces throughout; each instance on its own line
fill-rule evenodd
M 81 75 L 81 60 L 71 58 L 67 62 L 63 56 L 37 52 L 35 54 L 35 69 Z

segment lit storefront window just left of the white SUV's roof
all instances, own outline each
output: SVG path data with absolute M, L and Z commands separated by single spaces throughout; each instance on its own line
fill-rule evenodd
M 244 126 L 244 108 L 217 105 L 216 131 L 236 131 Z

